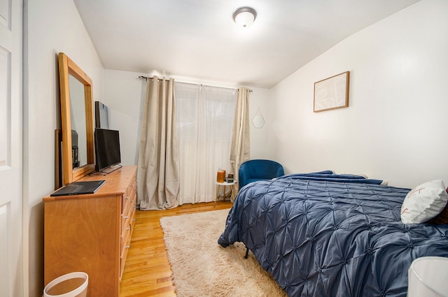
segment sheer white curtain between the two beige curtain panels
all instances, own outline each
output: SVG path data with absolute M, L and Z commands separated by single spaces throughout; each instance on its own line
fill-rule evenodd
M 179 204 L 215 200 L 218 169 L 230 171 L 237 90 L 175 84 L 181 185 Z

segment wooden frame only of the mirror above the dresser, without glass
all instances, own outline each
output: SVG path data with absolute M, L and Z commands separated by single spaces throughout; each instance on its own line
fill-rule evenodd
M 87 164 L 73 169 L 71 152 L 71 118 L 69 74 L 84 85 L 85 101 L 85 136 L 87 137 Z M 92 80 L 63 52 L 59 52 L 59 89 L 61 95 L 61 126 L 62 126 L 62 177 L 63 183 L 69 184 L 83 178 L 94 171 L 93 143 L 93 101 Z

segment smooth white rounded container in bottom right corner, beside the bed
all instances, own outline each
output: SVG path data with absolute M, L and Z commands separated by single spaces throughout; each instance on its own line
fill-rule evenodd
M 423 256 L 412 261 L 407 297 L 448 297 L 448 258 Z

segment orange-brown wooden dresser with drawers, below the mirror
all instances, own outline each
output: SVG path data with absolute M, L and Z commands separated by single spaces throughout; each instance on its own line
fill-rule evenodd
M 119 295 L 134 229 L 137 166 L 79 181 L 106 180 L 94 194 L 45 196 L 45 286 L 66 273 L 89 276 L 87 296 Z

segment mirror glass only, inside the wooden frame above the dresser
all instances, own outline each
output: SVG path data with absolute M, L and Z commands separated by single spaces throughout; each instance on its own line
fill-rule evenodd
M 84 85 L 69 75 L 71 153 L 73 169 L 87 164 L 87 143 L 85 135 Z

